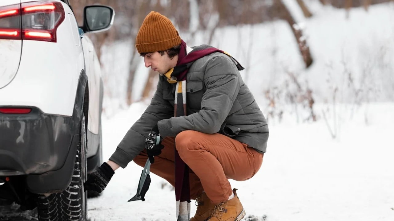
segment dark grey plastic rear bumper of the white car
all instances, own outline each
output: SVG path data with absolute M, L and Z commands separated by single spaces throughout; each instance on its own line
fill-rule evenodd
M 71 116 L 0 113 L 0 176 L 42 174 L 65 164 L 78 134 Z M 71 148 L 72 149 L 72 148 Z

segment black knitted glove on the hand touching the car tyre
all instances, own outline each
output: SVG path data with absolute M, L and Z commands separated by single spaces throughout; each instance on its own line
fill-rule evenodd
M 86 190 L 91 190 L 97 193 L 101 193 L 110 182 L 115 171 L 106 162 L 101 164 L 84 183 Z

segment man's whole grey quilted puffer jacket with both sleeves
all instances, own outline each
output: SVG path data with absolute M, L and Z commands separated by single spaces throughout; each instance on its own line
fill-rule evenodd
M 132 125 L 110 160 L 125 168 L 145 148 L 145 138 L 158 124 L 161 136 L 181 131 L 221 133 L 266 152 L 268 125 L 238 69 L 225 54 L 215 52 L 195 61 L 186 76 L 187 116 L 174 116 L 176 84 L 160 76 L 156 93 Z

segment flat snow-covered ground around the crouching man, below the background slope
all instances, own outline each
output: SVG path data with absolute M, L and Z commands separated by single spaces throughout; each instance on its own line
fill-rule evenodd
M 104 158 L 110 157 L 146 105 L 134 103 L 103 119 Z M 349 109 L 344 107 L 343 114 L 345 110 Z M 335 139 L 323 120 L 270 124 L 260 171 L 244 182 L 230 180 L 247 216 L 260 221 L 394 220 L 393 112 L 394 103 L 363 105 L 353 120 L 340 122 Z M 91 221 L 175 220 L 175 192 L 155 175 L 144 202 L 127 202 L 136 193 L 141 169 L 131 162 L 117 170 L 103 195 L 89 199 Z

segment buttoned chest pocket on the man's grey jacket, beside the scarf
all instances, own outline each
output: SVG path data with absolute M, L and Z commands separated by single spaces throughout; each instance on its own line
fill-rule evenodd
M 186 82 L 186 103 L 189 109 L 201 110 L 201 100 L 204 95 L 203 81 Z

